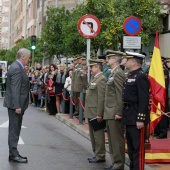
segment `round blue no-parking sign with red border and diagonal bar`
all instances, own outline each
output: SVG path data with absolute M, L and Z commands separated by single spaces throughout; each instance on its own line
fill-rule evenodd
M 138 35 L 142 29 L 141 21 L 134 16 L 126 18 L 123 22 L 123 30 L 127 35 Z

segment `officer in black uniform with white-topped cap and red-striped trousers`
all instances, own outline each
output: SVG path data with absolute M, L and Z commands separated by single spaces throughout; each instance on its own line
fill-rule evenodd
M 149 80 L 142 71 L 144 55 L 126 52 L 129 75 L 123 88 L 123 123 L 130 170 L 144 170 L 144 126 L 149 123 Z

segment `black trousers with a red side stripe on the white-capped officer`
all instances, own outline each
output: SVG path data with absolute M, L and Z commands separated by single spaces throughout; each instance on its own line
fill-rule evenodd
M 143 139 L 141 139 L 141 133 L 143 133 Z M 130 158 L 130 170 L 144 170 L 144 129 L 141 131 L 136 126 L 126 126 L 126 140 Z

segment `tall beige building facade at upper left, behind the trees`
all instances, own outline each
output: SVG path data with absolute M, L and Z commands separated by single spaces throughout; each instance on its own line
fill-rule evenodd
M 2 0 L 6 1 L 6 0 Z M 41 36 L 42 28 L 47 20 L 48 7 L 72 9 L 84 0 L 9 0 L 10 29 L 9 48 L 31 35 Z

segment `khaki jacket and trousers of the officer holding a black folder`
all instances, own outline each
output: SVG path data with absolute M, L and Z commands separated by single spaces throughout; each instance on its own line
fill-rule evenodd
M 103 116 L 104 113 L 104 95 L 106 78 L 103 73 L 99 73 L 89 83 L 86 90 L 84 117 L 96 118 Z M 99 160 L 105 160 L 105 137 L 104 129 L 94 131 L 89 122 L 89 134 L 95 157 Z

